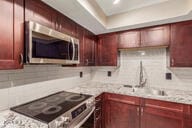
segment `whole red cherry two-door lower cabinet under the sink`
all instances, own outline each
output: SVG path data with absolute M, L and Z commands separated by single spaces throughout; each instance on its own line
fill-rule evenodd
M 102 128 L 192 128 L 190 106 L 179 103 L 105 93 L 102 112 Z

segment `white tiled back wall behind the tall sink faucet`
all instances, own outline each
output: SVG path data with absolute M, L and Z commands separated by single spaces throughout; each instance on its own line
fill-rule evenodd
M 141 55 L 141 53 L 145 53 L 145 55 Z M 119 69 L 113 67 L 95 68 L 92 73 L 92 81 L 137 85 L 139 83 L 140 61 L 142 60 L 148 86 L 192 91 L 192 68 L 167 68 L 166 53 L 165 48 L 121 51 Z M 112 71 L 112 77 L 107 76 L 107 71 Z M 172 73 L 172 80 L 165 79 L 166 72 Z

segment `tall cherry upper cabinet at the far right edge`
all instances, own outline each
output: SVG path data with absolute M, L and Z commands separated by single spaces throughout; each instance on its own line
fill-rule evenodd
M 192 21 L 171 25 L 170 66 L 192 67 Z

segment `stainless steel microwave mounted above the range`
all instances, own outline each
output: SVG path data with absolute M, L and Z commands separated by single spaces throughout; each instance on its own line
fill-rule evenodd
M 31 64 L 78 64 L 79 40 L 34 22 L 26 22 L 25 61 Z

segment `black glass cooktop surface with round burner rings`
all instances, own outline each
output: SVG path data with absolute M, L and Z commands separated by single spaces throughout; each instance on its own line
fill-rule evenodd
M 92 96 L 63 91 L 13 107 L 11 110 L 49 123 L 90 97 Z

